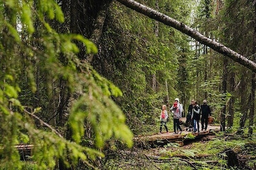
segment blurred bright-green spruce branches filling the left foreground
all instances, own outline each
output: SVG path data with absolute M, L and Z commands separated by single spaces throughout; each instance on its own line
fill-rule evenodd
M 77 58 L 80 49 L 74 41 L 82 42 L 87 53 L 97 53 L 93 42 L 81 35 L 57 33 L 46 22 L 48 19 L 64 21 L 59 5 L 55 1 L 37 2 L 1 2 L 0 32 L 4 41 L 0 43 L 0 166 L 24 169 L 14 147 L 20 143 L 34 145 L 35 169 L 54 169 L 59 159 L 66 166 L 74 166 L 79 161 L 93 166 L 90 161 L 104 154 L 81 145 L 85 121 L 91 124 L 98 148 L 112 137 L 132 146 L 132 132 L 125 124 L 123 112 L 111 100 L 122 92 Z M 9 13 L 12 10 L 15 13 Z M 18 26 L 11 20 L 16 20 Z M 40 78 L 43 79 L 41 84 L 38 83 Z M 40 119 L 47 115 L 49 102 L 55 100 L 55 89 L 61 89 L 56 80 L 65 82 L 69 94 L 78 94 L 71 103 L 68 121 L 73 139 L 66 140 Z M 44 96 L 39 96 L 40 92 Z M 33 101 L 40 97 L 41 103 Z M 34 118 L 41 126 L 35 124 Z

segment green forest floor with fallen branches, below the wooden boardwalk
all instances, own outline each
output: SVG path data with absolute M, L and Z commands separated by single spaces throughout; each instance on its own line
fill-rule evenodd
M 212 129 L 219 129 L 219 126 L 210 125 L 207 131 Z M 172 135 L 177 134 L 170 132 L 148 136 Z M 179 141 L 135 144 L 132 149 L 113 151 L 111 155 L 115 156 L 106 155 L 107 169 L 256 169 L 256 136 L 216 132 L 182 144 Z

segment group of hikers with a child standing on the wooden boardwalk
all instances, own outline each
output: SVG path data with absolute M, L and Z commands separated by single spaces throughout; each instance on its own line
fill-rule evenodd
M 170 110 L 173 113 L 173 127 L 175 134 L 181 134 L 182 128 L 180 127 L 180 122 L 182 118 L 183 106 L 180 104 L 179 98 L 174 100 Z M 202 117 L 201 117 L 202 115 Z M 185 125 L 187 129 L 193 129 L 193 132 L 199 131 L 199 120 L 201 117 L 201 131 L 207 130 L 208 117 L 211 116 L 210 106 L 207 104 L 207 100 L 203 100 L 203 104 L 199 106 L 197 101 L 191 100 L 190 106 L 188 106 L 188 114 Z M 166 105 L 162 106 L 162 112 L 160 115 L 160 134 L 162 134 L 162 126 L 165 127 L 166 132 L 169 133 L 166 123 L 168 121 L 168 112 L 166 110 Z

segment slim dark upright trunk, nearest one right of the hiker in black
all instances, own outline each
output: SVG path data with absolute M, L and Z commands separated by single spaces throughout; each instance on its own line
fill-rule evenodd
M 222 77 L 222 93 L 225 94 L 227 92 L 227 64 L 228 60 L 227 58 L 224 58 L 223 62 L 223 77 Z M 226 124 L 226 103 L 225 98 L 222 97 L 222 110 L 221 110 L 221 131 L 225 131 L 225 124 Z

